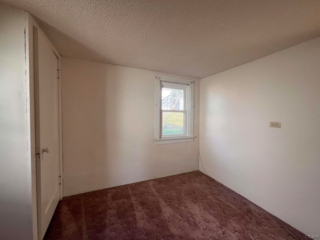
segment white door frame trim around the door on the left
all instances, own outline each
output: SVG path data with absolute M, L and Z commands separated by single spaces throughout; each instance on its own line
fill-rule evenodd
M 37 150 L 36 150 L 36 117 L 38 117 L 38 112 L 36 112 L 37 108 L 36 104 L 36 97 L 37 93 L 35 91 L 35 84 L 38 79 L 36 79 L 36 75 L 34 74 L 34 60 L 37 56 L 34 55 L 34 44 L 36 36 L 33 32 L 41 32 L 44 36 L 45 34 L 40 29 L 39 25 L 35 22 L 32 18 L 30 13 L 25 12 L 25 56 L 26 56 L 26 81 L 29 83 L 29 89 L 26 89 L 28 92 L 29 103 L 27 106 L 28 115 L 29 115 L 29 129 L 30 129 L 30 150 L 31 150 L 31 171 L 30 171 L 30 178 L 31 178 L 31 185 L 29 186 L 29 190 L 31 191 L 32 195 L 32 232 L 33 232 L 33 240 L 39 240 L 40 235 L 38 234 L 39 227 L 38 227 L 38 207 L 37 207 L 37 186 L 39 185 L 40 179 L 37 176 L 37 165 L 39 164 L 39 159 L 37 157 Z M 61 55 L 49 41 L 49 39 L 45 36 L 47 43 L 50 45 L 50 48 L 54 52 L 58 60 L 58 79 L 57 79 L 57 87 L 58 87 L 58 158 L 59 158 L 59 176 L 60 176 L 60 185 L 59 185 L 59 199 L 61 200 L 63 197 L 63 175 L 62 175 L 62 106 L 61 106 Z M 42 240 L 42 239 L 40 239 Z

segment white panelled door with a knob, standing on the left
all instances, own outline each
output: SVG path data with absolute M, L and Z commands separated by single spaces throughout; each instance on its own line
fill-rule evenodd
M 34 96 L 38 238 L 42 239 L 60 198 L 58 58 L 34 28 Z

